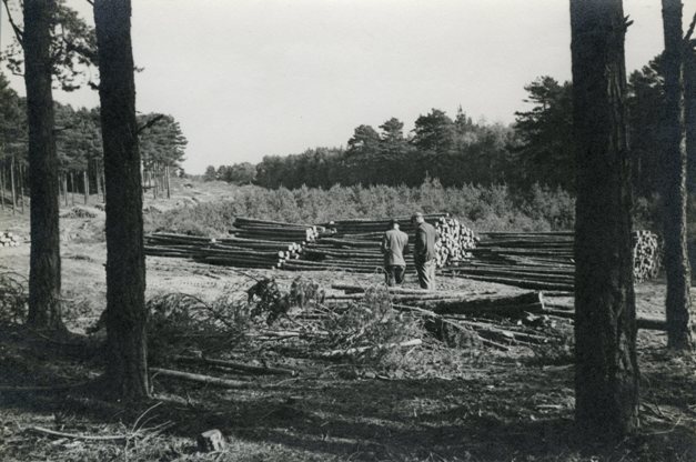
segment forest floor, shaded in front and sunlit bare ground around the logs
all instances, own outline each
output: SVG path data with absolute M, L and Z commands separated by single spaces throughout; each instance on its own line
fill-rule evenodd
M 210 194 L 211 198 L 215 194 Z M 149 205 L 153 205 L 150 203 Z M 155 203 L 167 207 L 167 203 Z M 61 339 L 0 327 L 1 461 L 695 461 L 696 358 L 665 349 L 662 332 L 640 331 L 640 429 L 611 446 L 579 441 L 573 426 L 572 324 L 564 343 L 447 348 L 425 337 L 397 362 L 329 360 L 312 344 L 251 342 L 232 358 L 292 369 L 289 376 L 198 372 L 239 386 L 152 376 L 152 401 L 121 405 L 84 388 L 29 391 L 92 381 L 103 370 L 98 335 L 84 335 L 105 305 L 103 212 L 61 220 L 63 293 L 72 334 Z M 63 210 L 69 212 L 70 208 Z M 0 231 L 28 239 L 28 213 L 0 212 Z M 148 298 L 184 292 L 205 300 L 243 294 L 251 278 L 288 288 L 295 273 L 208 267 L 148 258 Z M 29 244 L 0 249 L 0 273 L 29 272 Z M 371 285 L 376 275 L 312 272 L 332 283 Z M 441 288 L 513 293 L 498 284 L 441 278 Z M 407 287 L 415 287 L 413 277 Z M 638 313 L 664 317 L 664 281 L 636 287 Z M 572 304 L 572 299 L 558 303 Z M 307 350 L 307 348 L 310 350 Z M 152 408 L 155 405 L 154 408 Z M 152 408 L 152 409 L 151 409 Z M 161 426 L 160 426 L 161 425 Z M 121 435 L 115 441 L 51 436 Z M 221 452 L 196 451 L 199 433 L 219 429 Z

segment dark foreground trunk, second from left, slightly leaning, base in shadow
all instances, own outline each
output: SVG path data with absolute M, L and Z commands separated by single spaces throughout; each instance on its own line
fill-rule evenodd
M 107 372 L 111 398 L 149 394 L 142 185 L 130 0 L 95 0 L 107 185 Z

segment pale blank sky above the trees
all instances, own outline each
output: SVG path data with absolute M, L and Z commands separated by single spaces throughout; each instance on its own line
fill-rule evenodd
M 659 0 L 624 10 L 631 71 L 663 47 Z M 138 110 L 181 122 L 191 173 L 345 145 L 392 117 L 411 130 L 432 108 L 510 123 L 525 84 L 571 78 L 567 0 L 133 0 L 132 37 Z M 56 99 L 98 104 L 89 90 Z

